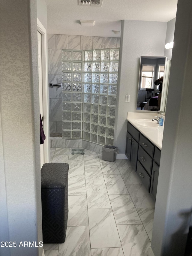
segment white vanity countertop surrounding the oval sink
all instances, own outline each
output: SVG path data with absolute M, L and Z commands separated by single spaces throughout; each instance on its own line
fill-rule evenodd
M 162 140 L 163 140 L 163 126 L 157 125 L 157 127 L 143 127 L 137 123 L 138 119 L 148 119 L 151 120 L 155 118 L 154 116 L 161 116 L 158 113 L 136 113 L 136 112 L 128 112 L 127 120 L 139 130 L 146 138 L 148 138 L 155 146 L 159 149 L 162 147 Z M 164 117 L 165 121 L 165 117 Z M 156 122 L 156 121 L 152 121 Z

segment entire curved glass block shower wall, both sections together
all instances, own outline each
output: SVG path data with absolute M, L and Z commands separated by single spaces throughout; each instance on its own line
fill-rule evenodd
M 118 68 L 119 48 L 62 51 L 63 137 L 113 145 Z

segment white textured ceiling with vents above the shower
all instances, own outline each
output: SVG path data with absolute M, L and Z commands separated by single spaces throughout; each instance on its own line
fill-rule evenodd
M 103 0 L 102 7 L 80 6 L 78 0 L 45 0 L 49 34 L 120 37 L 121 20 L 167 22 L 176 17 L 177 0 Z M 95 20 L 81 26 L 79 20 Z

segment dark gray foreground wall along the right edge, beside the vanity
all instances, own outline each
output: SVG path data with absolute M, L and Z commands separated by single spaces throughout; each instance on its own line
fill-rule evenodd
M 178 0 L 151 244 L 155 256 L 184 255 L 190 226 L 192 208 L 191 13 L 191 0 Z

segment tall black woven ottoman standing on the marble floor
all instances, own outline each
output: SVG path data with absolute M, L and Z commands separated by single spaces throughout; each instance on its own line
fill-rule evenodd
M 68 218 L 68 170 L 65 163 L 41 168 L 41 201 L 44 243 L 65 241 Z

